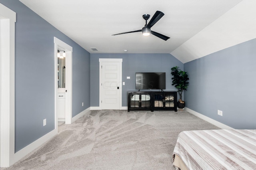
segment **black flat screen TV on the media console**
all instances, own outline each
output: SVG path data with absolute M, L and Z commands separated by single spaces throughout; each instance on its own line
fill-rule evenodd
M 136 73 L 136 90 L 165 89 L 165 73 Z

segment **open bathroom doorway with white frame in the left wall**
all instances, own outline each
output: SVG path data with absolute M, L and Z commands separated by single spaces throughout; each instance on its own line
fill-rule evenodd
M 55 128 L 72 120 L 72 47 L 54 37 Z M 60 123 L 59 123 L 60 122 Z

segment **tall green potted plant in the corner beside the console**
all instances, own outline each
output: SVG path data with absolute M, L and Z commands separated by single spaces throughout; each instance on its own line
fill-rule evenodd
M 182 92 L 188 88 L 188 75 L 185 71 L 179 69 L 178 66 L 172 67 L 172 85 L 178 89 L 180 100 L 177 102 L 177 107 L 183 109 L 185 107 L 185 101 L 182 101 Z

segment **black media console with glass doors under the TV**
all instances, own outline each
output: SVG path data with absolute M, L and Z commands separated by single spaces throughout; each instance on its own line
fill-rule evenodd
M 177 111 L 176 91 L 128 91 L 128 112 L 140 110 Z

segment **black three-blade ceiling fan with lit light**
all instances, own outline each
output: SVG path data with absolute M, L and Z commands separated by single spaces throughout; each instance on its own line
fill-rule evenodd
M 143 36 L 149 36 L 150 34 L 153 34 L 154 36 L 157 36 L 158 38 L 161 38 L 163 40 L 168 40 L 170 37 L 164 36 L 163 34 L 160 34 L 158 32 L 154 32 L 152 31 L 150 28 L 152 26 L 154 26 L 154 24 L 156 24 L 156 22 L 158 22 L 158 20 L 160 20 L 162 17 L 164 16 L 164 13 L 162 13 L 161 11 L 156 11 L 156 13 L 154 14 L 154 16 L 151 18 L 151 20 L 148 22 L 147 24 L 147 20 L 150 18 L 149 14 L 144 14 L 142 17 L 144 18 L 144 20 L 146 20 L 146 24 L 145 26 L 142 28 L 142 30 L 136 30 L 136 31 L 130 31 L 130 32 L 122 32 L 119 34 L 114 34 L 112 36 L 116 36 L 116 35 L 120 35 L 120 34 L 127 34 L 127 33 L 132 33 L 132 32 L 142 32 Z

